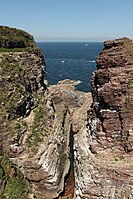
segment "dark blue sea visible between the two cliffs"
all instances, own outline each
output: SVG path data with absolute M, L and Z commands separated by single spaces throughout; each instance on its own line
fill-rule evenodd
M 80 80 L 77 90 L 91 90 L 90 80 L 96 69 L 96 57 L 103 48 L 102 42 L 39 42 L 47 68 L 48 83 L 63 79 Z

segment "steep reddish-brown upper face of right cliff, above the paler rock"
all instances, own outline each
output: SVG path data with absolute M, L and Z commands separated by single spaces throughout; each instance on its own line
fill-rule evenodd
M 96 140 L 101 147 L 133 150 L 133 43 L 126 38 L 104 43 L 93 76 Z M 91 129 L 91 125 L 90 125 Z

